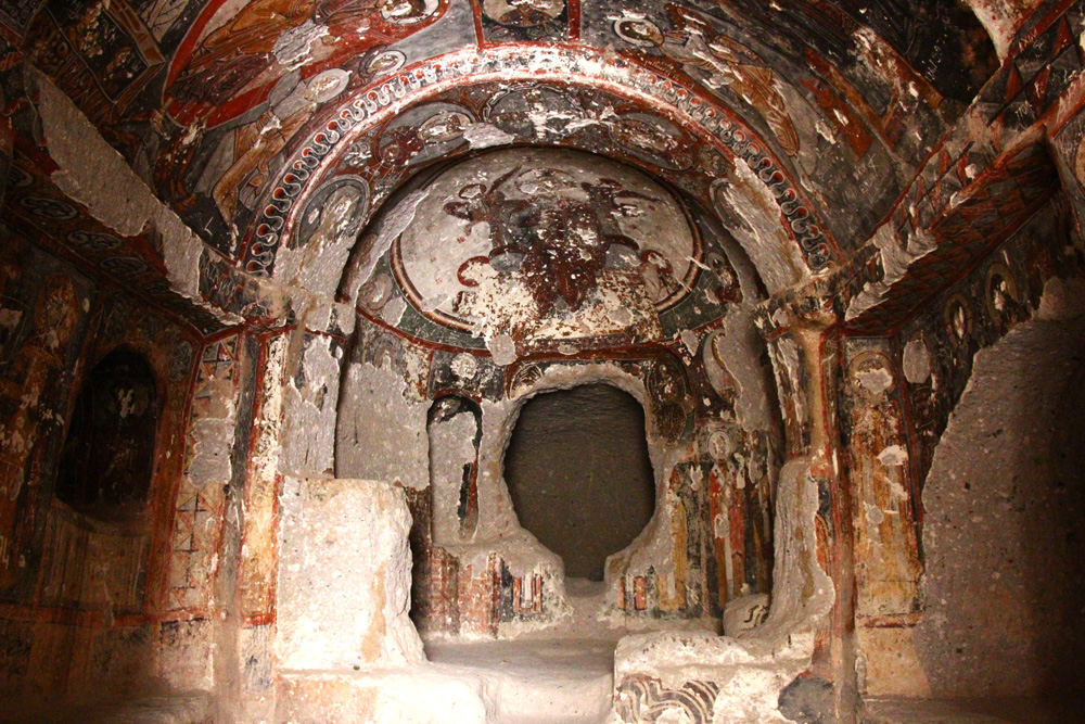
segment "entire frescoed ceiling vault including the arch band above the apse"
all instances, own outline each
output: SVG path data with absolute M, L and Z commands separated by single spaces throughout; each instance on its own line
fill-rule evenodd
M 256 276 L 327 231 L 315 200 L 360 229 L 427 166 L 566 145 L 773 249 L 779 288 L 868 238 L 997 65 L 924 0 L 5 0 L 0 23 L 8 98 L 28 61 Z

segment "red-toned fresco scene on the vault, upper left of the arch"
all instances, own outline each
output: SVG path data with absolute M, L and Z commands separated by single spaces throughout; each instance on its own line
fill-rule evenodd
M 165 157 L 213 161 L 194 189 L 182 188 L 176 168 L 168 175 L 159 168 L 159 182 L 178 198 L 210 191 L 231 224 L 239 203 L 253 205 L 277 156 L 346 88 L 353 72 L 342 66 L 407 37 L 445 7 L 443 0 L 248 2 L 175 60 L 166 109 L 189 131 L 171 141 Z M 218 150 L 201 153 L 204 143 Z

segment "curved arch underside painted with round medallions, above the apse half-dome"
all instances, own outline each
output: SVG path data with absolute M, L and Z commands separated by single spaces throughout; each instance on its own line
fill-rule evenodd
M 538 53 L 534 62 L 539 62 Z M 337 118 L 334 135 L 305 147 L 290 165 L 244 251 L 246 268 L 282 278 L 276 267 L 284 247 L 320 246 L 320 239 L 296 226 L 291 233 L 290 226 L 298 215 L 309 219 L 319 213 L 318 200 L 330 186 L 353 179 L 349 182 L 370 192 L 367 200 L 375 208 L 406 179 L 424 178 L 422 169 L 508 144 L 589 151 L 673 183 L 714 209 L 746 245 L 761 250 L 770 288 L 837 258 L 810 200 L 735 123 L 707 118 L 715 135 L 698 135 L 635 100 L 591 86 L 585 77 L 566 75 L 559 81 L 540 79 L 537 69 L 520 73 L 513 80 L 454 86 L 396 115 L 370 114 L 358 103 L 353 109 L 357 117 L 352 113 Z M 372 101 L 374 107 L 379 101 Z M 306 188 L 316 191 L 310 196 Z

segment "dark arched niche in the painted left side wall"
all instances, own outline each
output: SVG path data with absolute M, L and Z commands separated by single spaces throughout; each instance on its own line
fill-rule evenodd
M 158 393 L 146 359 L 117 348 L 87 373 L 61 453 L 56 497 L 94 518 L 138 513 L 154 468 Z

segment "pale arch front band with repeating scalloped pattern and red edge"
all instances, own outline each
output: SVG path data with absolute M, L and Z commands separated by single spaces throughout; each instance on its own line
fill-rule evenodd
M 726 160 L 719 167 L 710 164 L 706 170 L 701 169 L 709 174 L 710 182 L 722 169 L 733 168 L 736 162 L 746 169 L 742 175 L 750 185 L 745 192 L 753 194 L 751 207 L 760 208 L 762 214 L 768 214 L 767 206 L 775 207 L 766 224 L 778 227 L 781 239 L 789 240 L 792 245 L 787 253 L 795 255 L 797 264 L 789 263 L 788 266 L 802 267 L 784 283 L 793 283 L 801 275 L 820 271 L 839 261 L 837 245 L 816 206 L 792 180 L 788 165 L 729 109 L 628 59 L 616 61 L 585 49 L 544 48 L 534 49 L 529 61 L 523 50 L 505 47 L 484 53 L 459 52 L 442 56 L 363 89 L 333 115 L 322 116 L 278 180 L 270 185 L 260 212 L 246 233 L 241 259 L 244 268 L 256 276 L 275 276 L 279 251 L 301 223 L 299 215 L 308 207 L 312 194 L 349 163 L 356 144 L 366 132 L 396 115 L 436 100 L 442 92 L 497 79 L 503 85 L 560 82 L 572 89 L 602 90 L 651 106 L 661 117 L 673 119 L 671 123 L 676 123 L 702 148 L 712 149 Z M 516 140 L 493 124 L 477 127 L 477 143 L 483 148 L 507 145 Z M 550 140 L 542 144 L 559 143 Z M 608 152 L 607 149 L 593 150 Z M 398 181 L 395 180 L 397 176 Z M 381 188 L 372 190 L 359 226 L 374 218 L 374 213 L 393 190 L 410 176 L 404 168 L 380 167 L 373 181 L 380 180 Z M 393 180 L 387 180 L 390 177 Z M 712 205 L 711 196 L 706 198 L 705 207 Z M 729 219 L 722 220 L 729 224 Z M 349 240 L 352 244 L 354 240 Z

